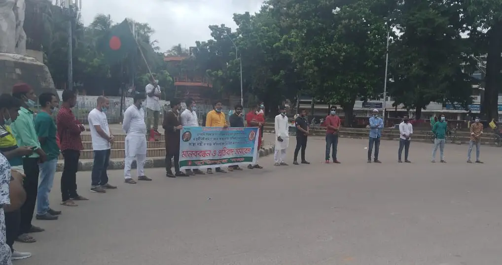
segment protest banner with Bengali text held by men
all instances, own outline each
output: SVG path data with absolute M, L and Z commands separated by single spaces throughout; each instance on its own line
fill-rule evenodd
M 256 163 L 258 127 L 183 127 L 180 169 Z

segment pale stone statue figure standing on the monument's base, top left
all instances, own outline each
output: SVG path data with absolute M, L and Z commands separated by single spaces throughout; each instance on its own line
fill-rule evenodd
M 0 52 L 26 54 L 25 0 L 0 0 Z

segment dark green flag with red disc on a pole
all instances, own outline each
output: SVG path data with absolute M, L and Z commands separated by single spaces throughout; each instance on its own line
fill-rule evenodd
M 110 34 L 102 44 L 104 58 L 109 64 L 116 64 L 129 53 L 136 52 L 133 27 L 134 24 L 125 19 L 111 28 Z

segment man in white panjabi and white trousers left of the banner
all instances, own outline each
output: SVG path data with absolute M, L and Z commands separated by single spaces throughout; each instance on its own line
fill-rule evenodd
M 144 96 L 134 96 L 134 104 L 124 112 L 122 129 L 126 132 L 126 159 L 124 159 L 124 182 L 136 184 L 131 178 L 131 166 L 136 158 L 138 180 L 151 181 L 145 176 L 145 162 L 147 160 L 147 127 L 145 125 L 145 111 L 141 108 Z

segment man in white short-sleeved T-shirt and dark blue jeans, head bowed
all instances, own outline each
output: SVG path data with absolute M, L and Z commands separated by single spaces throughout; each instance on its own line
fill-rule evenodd
M 89 112 L 87 120 L 91 130 L 92 150 L 94 150 L 94 163 L 91 172 L 91 192 L 105 193 L 105 189 L 116 189 L 108 183 L 106 169 L 110 162 L 111 145 L 115 137 L 111 134 L 106 118 L 106 111 L 110 101 L 104 96 L 98 96 L 96 108 Z

